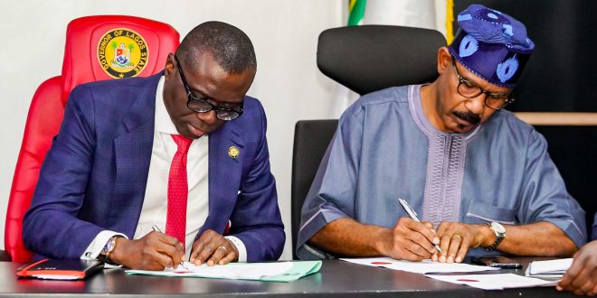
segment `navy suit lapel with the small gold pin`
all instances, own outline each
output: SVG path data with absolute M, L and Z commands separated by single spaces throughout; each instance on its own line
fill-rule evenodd
M 197 237 L 207 229 L 222 234 L 228 224 L 241 184 L 242 160 L 246 158 L 240 131 L 228 123 L 209 135 L 209 214 Z M 232 147 L 238 150 L 235 158 Z

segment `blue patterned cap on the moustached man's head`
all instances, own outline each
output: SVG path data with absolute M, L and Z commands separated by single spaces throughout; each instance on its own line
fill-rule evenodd
M 468 70 L 488 82 L 514 88 L 535 43 L 515 18 L 483 5 L 458 14 L 459 33 L 448 49 Z

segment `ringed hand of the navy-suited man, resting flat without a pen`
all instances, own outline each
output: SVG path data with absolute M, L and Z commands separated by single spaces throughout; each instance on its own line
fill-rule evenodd
M 238 249 L 221 234 L 208 229 L 198 240 L 194 241 L 191 251 L 191 263 L 194 265 L 224 265 L 236 261 Z

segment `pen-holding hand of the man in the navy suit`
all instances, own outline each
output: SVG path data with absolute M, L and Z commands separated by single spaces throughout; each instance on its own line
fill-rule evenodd
M 118 237 L 109 257 L 131 269 L 164 270 L 185 261 L 185 247 L 175 237 L 153 231 L 137 240 Z

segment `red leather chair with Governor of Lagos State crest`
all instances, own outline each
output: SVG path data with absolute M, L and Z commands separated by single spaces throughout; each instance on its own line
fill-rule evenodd
M 29 107 L 6 212 L 8 260 L 27 262 L 33 256 L 24 247 L 23 217 L 72 88 L 95 80 L 155 74 L 164 69 L 167 54 L 175 51 L 179 39 L 166 23 L 132 16 L 86 16 L 69 23 L 62 75 L 44 81 Z

